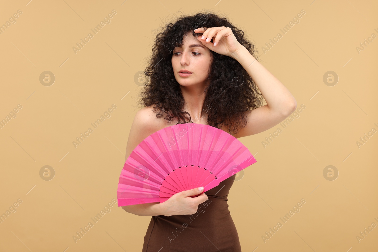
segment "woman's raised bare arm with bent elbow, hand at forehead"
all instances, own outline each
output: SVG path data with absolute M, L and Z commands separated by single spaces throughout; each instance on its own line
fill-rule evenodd
M 266 101 L 266 105 L 249 111 L 246 127 L 240 128 L 239 132 L 233 135 L 235 138 L 268 130 L 293 113 L 297 107 L 293 95 L 249 53 L 245 46 L 237 41 L 231 28 L 201 27 L 195 29 L 194 32 L 202 33 L 202 36 L 198 36 L 198 40 L 212 51 L 237 60 L 256 83 Z

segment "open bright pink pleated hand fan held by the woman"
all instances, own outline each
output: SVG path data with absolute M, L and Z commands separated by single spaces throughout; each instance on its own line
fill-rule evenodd
M 248 148 L 223 130 L 172 125 L 148 136 L 127 158 L 119 176 L 118 206 L 163 203 L 200 186 L 206 192 L 255 162 Z

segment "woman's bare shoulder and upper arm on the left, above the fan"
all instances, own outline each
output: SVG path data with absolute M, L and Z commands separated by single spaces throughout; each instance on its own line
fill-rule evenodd
M 129 138 L 127 139 L 125 161 L 135 147 L 147 138 L 147 136 L 164 128 L 162 125 L 162 119 L 156 117 L 156 112 L 153 111 L 152 106 L 144 107 L 137 111 L 131 125 Z

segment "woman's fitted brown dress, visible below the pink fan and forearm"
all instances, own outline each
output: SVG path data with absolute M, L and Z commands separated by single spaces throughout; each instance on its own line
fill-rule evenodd
M 152 216 L 142 252 L 241 252 L 227 204 L 234 179 L 206 191 L 208 200 L 193 215 Z

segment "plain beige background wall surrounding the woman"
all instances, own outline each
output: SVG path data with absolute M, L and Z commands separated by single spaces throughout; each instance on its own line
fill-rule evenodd
M 228 15 L 298 107 L 305 106 L 287 128 L 239 139 L 257 159 L 229 193 L 243 251 L 377 251 L 378 227 L 356 238 L 378 225 L 376 1 L 26 0 L 1 6 L 0 25 L 22 11 L 0 34 L 0 120 L 22 106 L 0 129 L 0 213 L 17 205 L 0 224 L 1 251 L 141 251 L 151 217 L 116 205 L 76 243 L 73 236 L 116 199 L 139 109 L 134 76 L 145 66 L 156 29 L 198 11 Z M 75 54 L 76 43 L 113 9 L 111 22 Z M 300 22 L 283 34 L 302 9 Z M 264 53 L 277 33 L 282 37 Z M 44 71 L 55 76 L 53 85 L 41 84 Z M 327 71 L 337 74 L 336 85 L 323 82 Z M 75 148 L 72 142 L 112 104 L 111 116 Z M 282 132 L 264 148 L 278 127 Z M 55 171 L 50 181 L 40 176 L 45 165 Z M 339 173 L 333 181 L 323 176 L 328 165 Z M 300 212 L 264 243 L 265 232 L 301 199 Z

